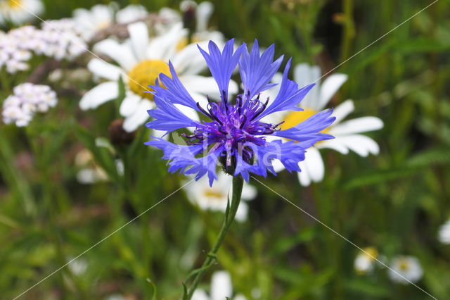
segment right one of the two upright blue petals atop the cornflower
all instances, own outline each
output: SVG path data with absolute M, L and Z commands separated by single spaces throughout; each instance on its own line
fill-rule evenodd
M 253 44 L 251 53 L 248 53 L 247 47 L 243 49 L 242 56 L 239 60 L 239 72 L 244 86 L 244 93 L 250 92 L 250 99 L 273 87 L 269 84 L 274 74 L 280 68 L 283 56 L 274 61 L 275 46 L 272 44 L 259 57 L 259 45 L 257 39 Z

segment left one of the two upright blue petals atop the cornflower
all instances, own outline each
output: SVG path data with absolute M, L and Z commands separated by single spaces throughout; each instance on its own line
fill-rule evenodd
M 228 100 L 228 87 L 231 75 L 238 64 L 240 53 L 245 47 L 245 44 L 239 46 L 233 54 L 233 44 L 234 39 L 230 39 L 226 42 L 224 50 L 220 52 L 219 47 L 210 41 L 210 44 L 208 44 L 209 54 L 198 46 L 200 53 L 210 68 L 212 77 L 214 77 L 219 86 L 219 92 L 223 101 Z

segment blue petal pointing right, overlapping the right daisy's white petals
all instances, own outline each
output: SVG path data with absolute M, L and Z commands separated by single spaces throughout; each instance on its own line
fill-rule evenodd
M 334 139 L 333 135 L 321 133 L 322 130 L 326 129 L 326 127 L 330 126 L 334 122 L 335 117 L 331 116 L 332 113 L 333 110 L 331 109 L 321 111 L 320 113 L 316 113 L 315 115 L 311 116 L 307 120 L 304 120 L 299 125 L 286 130 L 276 131 L 273 135 L 276 135 L 277 137 L 285 137 L 286 139 L 293 139 L 298 142 L 303 142 L 306 146 L 312 146 L 316 142 L 325 139 Z

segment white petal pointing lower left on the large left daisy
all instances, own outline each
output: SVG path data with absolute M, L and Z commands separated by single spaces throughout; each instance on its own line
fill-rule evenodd
M 103 82 L 82 96 L 82 99 L 79 101 L 79 107 L 84 111 L 96 108 L 107 101 L 117 98 L 117 96 L 119 96 L 119 85 L 117 82 Z

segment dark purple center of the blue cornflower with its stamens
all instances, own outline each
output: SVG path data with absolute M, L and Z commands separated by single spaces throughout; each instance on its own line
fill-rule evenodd
M 223 99 L 226 99 L 223 93 Z M 197 104 L 211 122 L 203 122 L 195 127 L 193 135 L 186 136 L 190 144 L 204 144 L 204 149 L 210 152 L 223 146 L 226 156 L 226 166 L 232 164 L 232 157 L 242 155 L 246 163 L 252 163 L 254 157 L 253 146 L 264 146 L 266 139 L 262 135 L 271 135 L 278 130 L 278 125 L 262 123 L 257 118 L 267 106 L 269 97 L 263 103 L 259 101 L 259 95 L 250 99 L 250 92 L 243 96 L 236 96 L 236 104 L 228 101 L 220 103 L 208 98 L 207 109 Z M 212 146 L 210 148 L 210 146 Z

